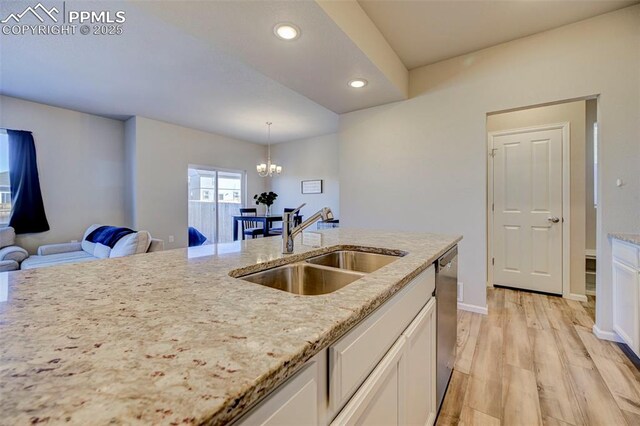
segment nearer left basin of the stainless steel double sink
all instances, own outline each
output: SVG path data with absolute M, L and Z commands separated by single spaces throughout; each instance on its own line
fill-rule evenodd
M 358 272 L 300 262 L 256 272 L 241 279 L 289 293 L 314 296 L 332 293 L 363 276 Z

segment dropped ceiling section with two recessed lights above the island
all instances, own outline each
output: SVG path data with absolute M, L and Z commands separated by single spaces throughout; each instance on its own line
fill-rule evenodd
M 251 65 L 318 104 L 344 113 L 403 99 L 403 94 L 312 0 L 153 1 L 137 7 L 197 40 Z M 273 34 L 292 22 L 302 35 L 284 42 Z M 369 85 L 347 83 L 364 77 Z

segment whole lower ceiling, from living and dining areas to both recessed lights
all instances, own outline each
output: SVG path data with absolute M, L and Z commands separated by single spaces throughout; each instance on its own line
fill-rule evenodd
M 3 1 L 0 17 L 23 8 Z M 1 94 L 257 143 L 266 143 L 266 121 L 272 142 L 297 140 L 335 132 L 338 113 L 402 99 L 315 1 L 67 0 L 66 8 L 124 10 L 124 34 L 1 36 Z M 282 21 L 302 37 L 277 39 Z M 365 90 L 347 86 L 360 76 Z

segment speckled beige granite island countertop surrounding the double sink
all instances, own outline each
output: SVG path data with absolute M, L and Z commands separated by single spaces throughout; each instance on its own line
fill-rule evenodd
M 461 238 L 348 229 L 0 274 L 1 424 L 224 424 Z M 408 254 L 327 295 L 232 278 L 330 251 Z

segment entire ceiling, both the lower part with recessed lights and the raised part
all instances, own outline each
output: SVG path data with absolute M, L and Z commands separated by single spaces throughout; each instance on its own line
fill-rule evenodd
M 359 1 L 408 68 L 634 3 Z M 61 0 L 45 3 L 62 9 Z M 1 1 L 0 18 L 24 4 Z M 266 121 L 272 142 L 303 139 L 335 132 L 339 113 L 405 96 L 313 0 L 67 0 L 66 8 L 124 10 L 124 34 L 2 35 L 0 94 L 257 143 L 266 143 Z M 287 21 L 300 39 L 273 35 Z M 369 85 L 349 88 L 355 77 Z

